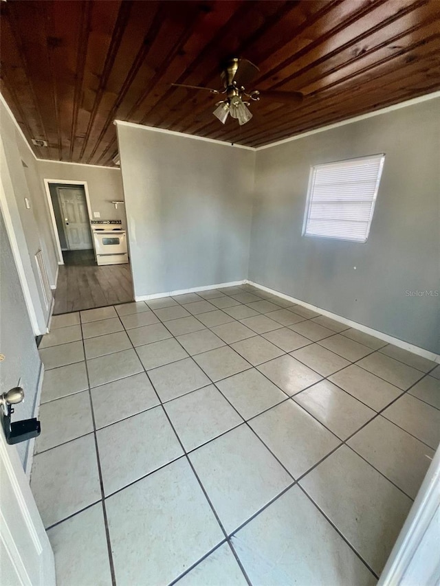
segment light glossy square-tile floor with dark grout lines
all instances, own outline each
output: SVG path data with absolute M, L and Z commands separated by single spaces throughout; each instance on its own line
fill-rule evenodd
M 32 490 L 60 586 L 375 584 L 435 363 L 249 285 L 57 315 Z

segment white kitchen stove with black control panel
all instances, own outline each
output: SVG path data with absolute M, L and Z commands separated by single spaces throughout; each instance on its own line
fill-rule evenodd
M 97 264 L 125 264 L 129 262 L 126 232 L 120 220 L 91 220 L 91 234 Z

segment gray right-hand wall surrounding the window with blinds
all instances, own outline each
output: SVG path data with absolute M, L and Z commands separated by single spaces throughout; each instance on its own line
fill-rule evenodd
M 250 280 L 440 352 L 440 100 L 259 150 Z M 385 153 L 365 244 L 303 237 L 311 166 Z M 356 267 L 356 269 L 353 269 Z

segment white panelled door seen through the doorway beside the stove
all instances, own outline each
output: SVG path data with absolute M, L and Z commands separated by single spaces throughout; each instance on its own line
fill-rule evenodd
M 93 248 L 89 213 L 83 189 L 56 188 L 63 214 L 64 229 L 69 250 Z

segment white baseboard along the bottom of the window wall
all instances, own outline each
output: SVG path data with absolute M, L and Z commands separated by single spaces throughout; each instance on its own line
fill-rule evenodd
M 322 315 L 325 315 L 326 317 L 330 317 L 331 319 L 334 319 L 336 322 L 340 322 L 341 324 L 344 324 L 346 326 L 350 326 L 351 328 L 355 328 L 356 330 L 360 330 L 361 332 L 364 332 L 365 334 L 369 334 L 371 336 L 374 336 L 375 338 L 379 338 L 380 340 L 388 342 L 389 344 L 394 344 L 394 346 L 398 346 L 399 348 L 402 348 L 403 350 L 408 350 L 408 352 L 412 352 L 413 354 L 417 354 L 418 356 L 421 356 L 421 357 L 426 358 L 428 360 L 432 360 L 434 362 L 440 363 L 440 354 L 435 354 L 435 352 L 430 352 L 430 350 L 425 350 L 424 348 L 419 348 L 419 346 L 414 346 L 414 344 L 410 344 L 409 342 L 404 342 L 402 340 L 399 340 L 399 338 L 395 338 L 395 337 L 390 336 L 388 334 L 384 334 L 383 332 L 373 330 L 373 328 L 369 328 L 368 326 L 364 326 L 363 324 L 358 324 L 358 322 L 353 322 L 351 319 L 347 319 L 347 317 L 342 317 L 341 315 L 338 315 L 336 313 L 331 313 L 331 311 L 327 311 L 327 309 L 322 309 L 321 307 L 318 307 L 316 305 L 311 305 L 310 303 L 306 303 L 303 300 L 296 299 L 296 297 L 291 297 L 290 295 L 285 295 L 285 293 L 280 293 L 279 291 L 276 291 L 275 289 L 270 289 L 270 287 L 260 285 L 259 283 L 254 283 L 253 281 L 249 281 L 249 280 L 246 280 L 245 282 L 249 283 L 250 285 L 253 285 L 257 289 L 261 289 L 262 291 L 267 291 L 267 293 L 272 293 L 273 295 L 278 295 L 278 297 L 281 297 L 282 299 L 285 299 L 287 301 L 292 301 L 292 303 L 297 303 L 299 305 L 302 305 L 303 307 L 307 307 L 308 309 L 311 309 L 313 311 L 317 311 L 318 313 L 321 313 Z

